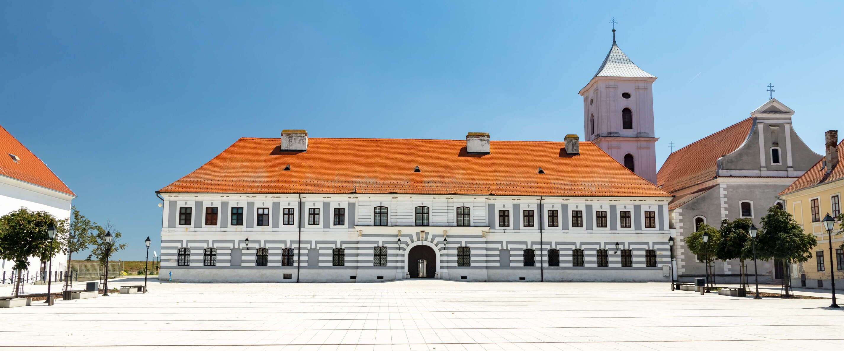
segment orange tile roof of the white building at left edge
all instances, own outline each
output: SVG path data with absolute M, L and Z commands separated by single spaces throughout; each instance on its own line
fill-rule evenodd
M 0 175 L 76 196 L 67 185 L 62 183 L 62 179 L 52 173 L 40 158 L 35 157 L 30 149 L 9 134 L 2 125 L 0 125 L 0 152 L 7 154 L 0 154 Z M 15 155 L 20 160 L 15 162 L 8 154 Z

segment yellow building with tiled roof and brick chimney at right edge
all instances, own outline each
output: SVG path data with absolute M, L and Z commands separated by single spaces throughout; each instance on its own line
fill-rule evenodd
M 818 245 L 812 250 L 813 258 L 798 264 L 794 270 L 792 284 L 795 287 L 831 289 L 832 274 L 835 274 L 836 290 L 844 290 L 844 233 L 841 222 L 836 221 L 830 234 L 822 220 L 829 214 L 841 214 L 841 198 L 844 196 L 844 166 L 841 165 L 838 148 L 844 141 L 837 140 L 837 130 L 826 132 L 826 155 L 791 186 L 780 193 L 785 209 L 794 215 L 794 220 L 803 231 L 814 234 Z

